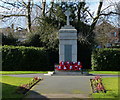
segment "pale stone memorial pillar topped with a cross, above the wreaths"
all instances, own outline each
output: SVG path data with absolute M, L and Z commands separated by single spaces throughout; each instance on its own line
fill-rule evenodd
M 70 10 L 64 14 L 67 16 L 67 25 L 59 30 L 59 61 L 77 62 L 77 30 L 70 25 Z

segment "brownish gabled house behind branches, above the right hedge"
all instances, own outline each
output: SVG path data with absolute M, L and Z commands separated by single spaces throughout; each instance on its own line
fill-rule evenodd
M 120 28 L 104 21 L 95 27 L 96 41 L 102 47 L 120 46 Z

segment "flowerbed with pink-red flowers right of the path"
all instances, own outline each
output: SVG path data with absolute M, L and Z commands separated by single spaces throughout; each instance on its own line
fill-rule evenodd
M 93 93 L 100 93 L 100 92 L 106 93 L 106 90 L 102 83 L 102 78 L 100 76 L 95 76 L 95 78 L 90 79 L 90 82 Z

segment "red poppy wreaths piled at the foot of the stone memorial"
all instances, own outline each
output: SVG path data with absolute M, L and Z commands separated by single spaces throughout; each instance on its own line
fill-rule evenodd
M 74 71 L 81 71 L 82 70 L 82 64 L 81 62 L 63 62 L 61 61 L 59 65 L 55 66 L 56 70 L 74 70 Z

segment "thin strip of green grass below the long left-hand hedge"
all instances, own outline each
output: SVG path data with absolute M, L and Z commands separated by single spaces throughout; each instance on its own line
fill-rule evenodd
M 48 73 L 48 71 L 0 71 L 0 74 L 39 74 Z

